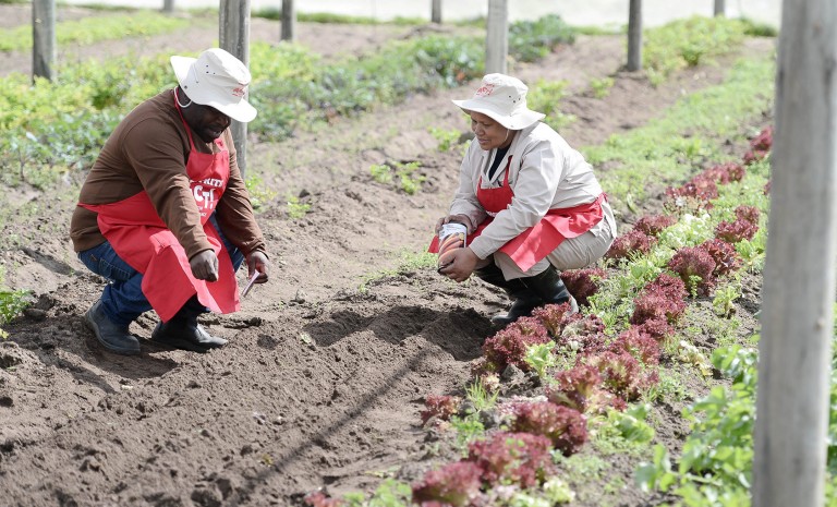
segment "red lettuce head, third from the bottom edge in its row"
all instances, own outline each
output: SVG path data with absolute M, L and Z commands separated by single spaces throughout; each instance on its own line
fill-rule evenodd
M 551 401 L 520 402 L 511 407 L 512 432 L 532 433 L 549 438 L 563 456 L 571 456 L 587 440 L 587 423 L 575 409 Z

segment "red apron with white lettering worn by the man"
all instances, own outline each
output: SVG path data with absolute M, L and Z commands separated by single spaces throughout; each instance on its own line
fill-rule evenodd
M 177 99 L 175 107 L 180 112 Z M 143 274 L 143 293 L 163 322 L 171 319 L 195 294 L 214 312 L 231 313 L 241 306 L 230 254 L 208 221 L 230 179 L 230 152 L 217 138 L 219 153 L 198 153 L 183 114 L 180 118 L 191 148 L 186 174 L 201 212 L 201 224 L 218 256 L 218 281 L 207 282 L 192 275 L 185 250 L 157 215 L 145 191 L 111 204 L 78 204 L 99 214 L 102 236 L 124 262 Z

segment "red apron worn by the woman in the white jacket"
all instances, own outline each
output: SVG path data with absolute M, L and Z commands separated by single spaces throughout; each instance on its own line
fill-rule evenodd
M 476 198 L 483 206 L 483 209 L 489 214 L 498 214 L 511 205 L 514 192 L 509 185 L 509 167 L 511 157 L 506 165 L 506 176 L 502 185 L 497 189 L 483 189 L 483 179 L 476 186 Z M 560 245 L 568 238 L 577 238 L 602 221 L 604 212 L 602 202 L 606 198 L 601 194 L 594 202 L 580 204 L 569 208 L 549 209 L 546 216 L 533 227 L 521 232 L 518 237 L 509 240 L 500 246 L 499 251 L 507 254 L 514 261 L 514 264 L 524 271 L 529 270 L 539 261 L 546 258 L 549 253 Z M 488 225 L 494 221 L 494 217 L 486 218 L 476 230 L 468 236 L 468 241 L 478 237 Z M 438 238 L 434 238 L 430 243 L 429 252 L 438 252 Z

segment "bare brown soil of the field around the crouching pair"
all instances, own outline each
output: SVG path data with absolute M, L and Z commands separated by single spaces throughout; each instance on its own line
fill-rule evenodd
M 7 9 L 0 7 L 0 19 Z M 154 52 L 211 45 L 214 34 L 195 29 L 207 38 L 198 41 L 190 32 L 142 45 Z M 405 31 L 301 24 L 300 36 L 324 53 L 364 52 Z M 74 55 L 108 58 L 134 50 L 134 44 Z M 764 41 L 744 48 L 769 50 Z M 565 110 L 579 120 L 562 133 L 578 146 L 642 125 L 725 74 L 721 62 L 654 88 L 620 70 L 623 53 L 621 37 L 581 37 L 510 72 L 524 81 L 569 82 Z M 15 69 L 26 72 L 23 62 Z M 605 75 L 615 79 L 610 94 L 593 98 L 590 80 Z M 468 125 L 449 99 L 472 87 L 411 97 L 283 143 L 251 142 L 248 171 L 277 194 L 259 216 L 274 276 L 240 313 L 204 319 L 211 333 L 230 339 L 205 355 L 147 340 L 153 314 L 132 326 L 143 338 L 141 355 L 104 351 L 82 321 L 102 280 L 75 258 L 66 237 L 76 183 L 50 198 L 15 189 L 27 202 L 3 226 L 9 245 L 0 262 L 7 285 L 32 290 L 35 304 L 0 341 L 4 505 L 295 505 L 318 487 L 340 494 L 369 491 L 383 476 L 412 481 L 450 457 L 450 446 L 439 446 L 421 427 L 423 398 L 461 393 L 470 362 L 493 333 L 488 317 L 506 298 L 482 282 L 456 285 L 433 270 L 392 273 L 401 252 L 428 242 L 447 208 L 460 149 L 438 152 L 428 129 L 464 135 Z M 369 174 L 373 164 L 411 160 L 426 177 L 415 195 Z M 289 196 L 300 196 L 311 212 L 291 219 Z M 742 334 L 754 325 L 749 315 L 757 307 L 759 285 L 747 285 Z M 506 393 L 523 387 L 507 386 Z M 700 393 L 706 386 L 693 387 Z M 657 439 L 671 448 L 686 431 L 680 408 L 655 408 Z M 631 486 L 634 466 L 620 457 L 608 478 L 579 485 L 573 505 L 666 503 Z M 617 479 L 623 487 L 603 491 Z

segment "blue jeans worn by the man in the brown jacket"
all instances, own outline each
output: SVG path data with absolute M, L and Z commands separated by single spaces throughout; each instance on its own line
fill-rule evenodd
M 215 214 L 209 219 L 230 253 L 233 271 L 238 271 L 244 262 L 244 254 L 223 236 Z M 143 274 L 122 261 L 110 242 L 106 241 L 78 252 L 78 259 L 87 266 L 87 269 L 109 280 L 101 292 L 101 307 L 112 323 L 128 326 L 140 315 L 151 310 L 148 299 L 143 294 Z

